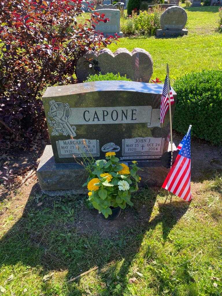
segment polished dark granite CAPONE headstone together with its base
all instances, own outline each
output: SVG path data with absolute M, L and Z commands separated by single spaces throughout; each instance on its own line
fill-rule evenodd
M 81 189 L 87 178 L 79 165 L 83 157 L 103 159 L 110 151 L 121 162 L 138 160 L 147 184 L 162 184 L 168 170 L 160 157 L 169 144 L 169 113 L 160 127 L 162 91 L 163 84 L 131 81 L 47 88 L 42 100 L 52 146 L 37 169 L 41 189 Z

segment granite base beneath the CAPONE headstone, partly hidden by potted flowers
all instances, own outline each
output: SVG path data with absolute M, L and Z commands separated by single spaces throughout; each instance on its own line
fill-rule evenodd
M 159 160 L 138 161 L 138 166 L 142 168 L 139 171 L 141 187 L 162 186 L 168 169 Z M 87 192 L 86 187 L 82 187 L 87 180 L 84 168 L 78 163 L 55 163 L 51 145 L 46 146 L 36 173 L 41 190 L 50 196 Z

